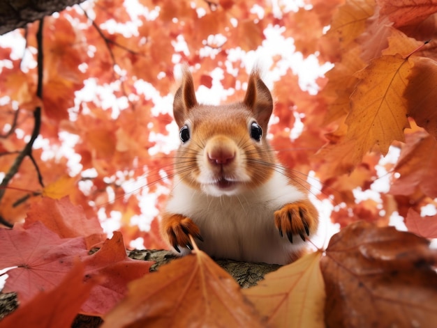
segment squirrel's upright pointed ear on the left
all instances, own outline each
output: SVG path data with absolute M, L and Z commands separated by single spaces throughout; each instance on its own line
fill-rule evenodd
M 195 98 L 193 76 L 185 66 L 182 84 L 179 86 L 179 89 L 177 89 L 175 100 L 173 100 L 173 115 L 179 127 L 184 125 L 188 111 L 197 104 L 198 100 Z

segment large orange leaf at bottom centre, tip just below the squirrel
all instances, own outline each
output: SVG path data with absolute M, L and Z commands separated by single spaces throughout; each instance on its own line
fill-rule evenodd
M 173 260 L 133 281 L 108 327 L 262 327 L 239 285 L 204 252 Z

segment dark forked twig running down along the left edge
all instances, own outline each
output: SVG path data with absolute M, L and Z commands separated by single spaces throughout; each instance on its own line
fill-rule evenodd
M 44 18 L 40 19 L 40 24 L 38 26 L 38 32 L 36 33 L 36 40 L 38 42 L 38 56 L 37 56 L 37 62 L 38 62 L 38 86 L 36 90 L 36 95 L 38 97 L 43 97 L 43 22 Z M 20 169 L 20 165 L 23 162 L 24 157 L 29 156 L 32 163 L 35 166 L 35 169 L 38 173 L 38 180 L 40 182 L 40 185 L 44 187 L 43 185 L 43 178 L 40 174 L 38 165 L 35 162 L 34 157 L 32 156 L 32 147 L 34 146 L 34 141 L 36 138 L 38 138 L 38 135 L 40 133 L 40 127 L 41 127 L 41 107 L 36 107 L 34 111 L 34 130 L 32 131 L 31 138 L 29 142 L 24 146 L 24 149 L 18 154 L 17 157 L 15 157 L 15 161 L 13 162 L 12 166 L 10 166 L 10 169 L 8 173 L 6 173 L 5 177 L 3 178 L 3 181 L 1 181 L 0 184 L 0 201 L 3 198 L 6 187 L 8 186 L 10 180 L 14 177 L 14 175 L 18 172 L 18 169 Z M 8 221 L 4 219 L 3 217 L 0 217 L 0 223 L 4 224 L 6 226 L 11 226 L 8 224 Z

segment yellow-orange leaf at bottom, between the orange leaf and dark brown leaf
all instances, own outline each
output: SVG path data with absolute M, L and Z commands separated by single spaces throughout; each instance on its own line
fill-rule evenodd
M 242 292 L 272 327 L 325 327 L 321 256 L 321 251 L 307 254 Z

